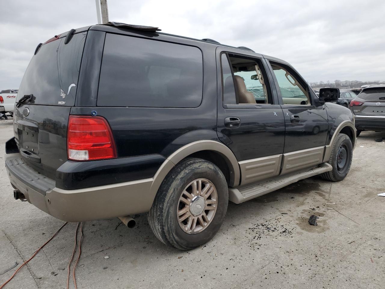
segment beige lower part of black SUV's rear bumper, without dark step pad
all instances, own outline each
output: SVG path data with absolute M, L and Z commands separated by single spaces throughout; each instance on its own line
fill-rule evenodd
M 79 190 L 54 188 L 44 196 L 9 171 L 8 177 L 28 202 L 67 222 L 102 220 L 148 212 L 154 200 L 154 195 L 150 193 L 152 178 Z

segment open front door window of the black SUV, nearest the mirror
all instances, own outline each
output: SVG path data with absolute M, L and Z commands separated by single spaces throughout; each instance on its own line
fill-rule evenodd
M 286 68 L 271 63 L 278 85 L 280 86 L 283 104 L 310 104 L 308 91 Z

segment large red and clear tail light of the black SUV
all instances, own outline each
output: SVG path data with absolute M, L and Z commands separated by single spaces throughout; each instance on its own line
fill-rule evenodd
M 67 131 L 68 159 L 75 161 L 116 158 L 114 138 L 100 116 L 70 116 Z

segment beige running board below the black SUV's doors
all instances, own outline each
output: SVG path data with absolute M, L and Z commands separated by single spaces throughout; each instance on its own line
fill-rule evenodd
M 333 168 L 328 163 L 321 163 L 316 168 L 301 171 L 300 173 L 290 173 L 283 176 L 277 176 L 264 183 L 247 184 L 237 188 L 229 188 L 229 200 L 233 203 L 240 204 L 264 194 L 273 192 L 296 181 L 309 178 L 310 176 L 319 175 Z

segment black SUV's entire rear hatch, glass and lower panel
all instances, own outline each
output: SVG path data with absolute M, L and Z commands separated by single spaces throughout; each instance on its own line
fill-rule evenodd
M 55 171 L 67 161 L 67 126 L 75 105 L 80 62 L 87 32 L 54 37 L 35 53 L 17 94 L 13 128 L 27 165 L 55 179 Z

